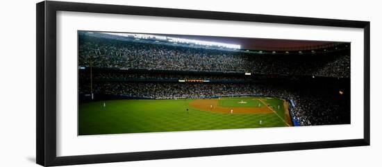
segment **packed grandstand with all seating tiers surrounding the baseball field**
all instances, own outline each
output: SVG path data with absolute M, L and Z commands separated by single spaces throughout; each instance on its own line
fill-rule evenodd
M 350 123 L 350 45 L 249 51 L 78 32 L 81 100 L 272 96 L 298 125 Z

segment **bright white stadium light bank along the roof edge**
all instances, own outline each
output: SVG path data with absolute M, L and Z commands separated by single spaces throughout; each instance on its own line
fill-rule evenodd
M 136 34 L 136 33 L 105 33 L 105 34 L 117 35 L 122 37 L 134 37 L 137 39 L 155 39 L 155 40 L 162 40 L 162 41 L 174 42 L 174 43 L 196 44 L 196 45 L 202 45 L 202 46 L 215 46 L 215 47 L 223 47 L 227 49 L 240 49 L 239 44 L 225 44 L 220 42 L 208 42 L 208 41 L 201 41 L 196 39 L 185 39 L 185 38 L 179 38 L 179 37 L 166 37 L 161 35 Z

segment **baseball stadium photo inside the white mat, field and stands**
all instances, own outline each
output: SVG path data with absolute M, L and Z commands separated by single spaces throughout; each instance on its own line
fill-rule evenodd
M 78 135 L 349 123 L 349 42 L 78 30 Z

